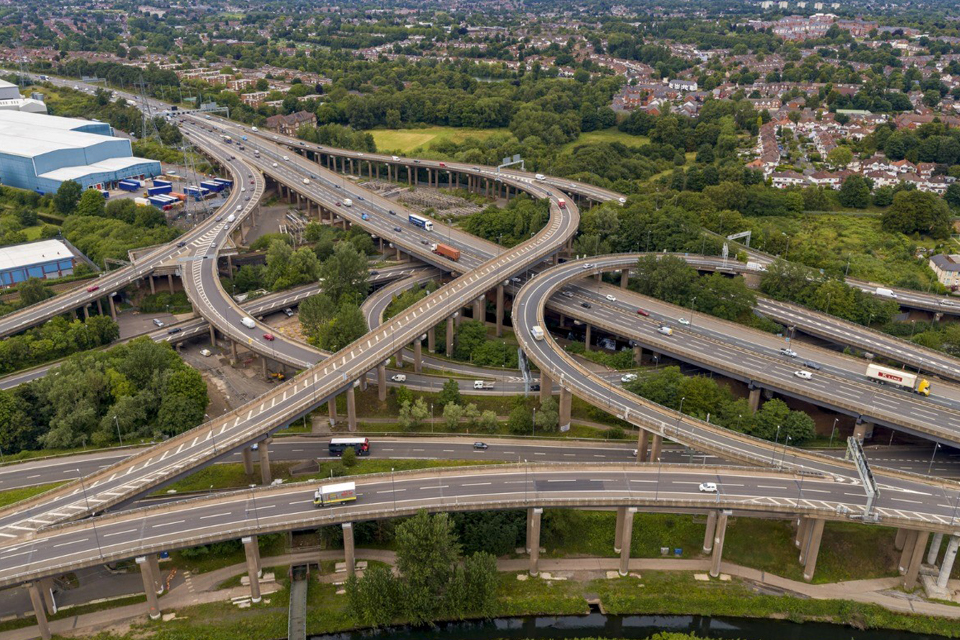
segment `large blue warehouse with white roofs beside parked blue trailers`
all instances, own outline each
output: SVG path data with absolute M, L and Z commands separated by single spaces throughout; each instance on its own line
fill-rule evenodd
M 130 141 L 104 122 L 0 110 L 0 183 L 38 193 L 73 180 L 110 189 L 125 178 L 160 175 L 156 160 L 137 158 Z

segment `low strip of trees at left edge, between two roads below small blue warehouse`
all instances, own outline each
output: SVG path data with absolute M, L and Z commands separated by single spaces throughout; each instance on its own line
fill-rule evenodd
M 34 286 L 42 287 L 39 280 L 33 282 Z M 0 341 L 0 374 L 95 349 L 119 337 L 120 328 L 108 316 L 90 316 L 73 322 L 57 316 L 39 327 Z

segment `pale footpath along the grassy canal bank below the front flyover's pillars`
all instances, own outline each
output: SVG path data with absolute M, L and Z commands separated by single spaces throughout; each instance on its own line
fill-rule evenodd
M 396 562 L 396 554 L 394 552 L 377 549 L 357 549 L 356 558 L 357 560 L 372 560 L 389 565 L 393 565 Z M 297 564 L 316 563 L 318 560 L 342 561 L 343 552 L 339 549 L 319 552 L 316 550 L 302 551 L 264 557 L 261 562 L 266 569 L 269 567 L 286 567 Z M 642 573 L 643 571 L 687 571 L 706 574 L 710 569 L 710 562 L 710 558 L 693 560 L 634 558 L 630 561 L 630 568 L 632 573 Z M 502 572 L 508 573 L 524 572 L 529 566 L 529 560 L 526 558 L 501 559 L 497 561 L 497 568 Z M 609 575 L 610 572 L 616 572 L 618 566 L 618 558 L 540 558 L 539 563 L 541 576 L 543 576 L 543 574 L 553 576 L 554 574 L 564 573 L 573 574 L 570 576 L 573 579 L 577 578 L 576 574 L 578 573 L 600 573 Z M 189 581 L 174 587 L 166 595 L 160 597 L 160 607 L 165 613 L 175 613 L 177 609 L 184 607 L 212 602 L 230 602 L 249 597 L 250 588 L 247 586 L 229 587 L 225 589 L 217 588 L 218 585 L 225 581 L 245 574 L 246 570 L 246 563 L 240 563 L 209 573 L 191 575 Z M 720 571 L 721 580 L 729 579 L 726 578 L 726 576 L 735 576 L 757 585 L 771 587 L 785 592 L 785 595 L 815 600 L 850 600 L 853 602 L 879 605 L 897 613 L 938 616 L 960 620 L 960 607 L 929 602 L 911 597 L 902 592 L 896 592 L 895 590 L 900 583 L 900 578 L 897 577 L 850 580 L 830 584 L 807 584 L 806 582 L 788 580 L 787 578 L 782 578 L 772 573 L 729 562 L 721 563 Z M 342 582 L 346 579 L 346 574 L 325 574 L 321 576 L 320 579 L 328 583 Z M 957 589 L 960 588 L 960 584 L 952 584 L 951 587 Z M 280 585 L 276 582 L 261 582 L 261 592 L 265 600 L 269 599 L 269 594 L 275 593 L 280 589 Z M 146 604 L 139 603 L 53 620 L 50 622 L 50 630 L 55 635 L 61 636 L 93 635 L 107 629 L 117 633 L 123 633 L 129 625 L 145 622 L 146 620 Z M 0 640 L 33 640 L 39 637 L 40 632 L 36 626 L 0 633 Z

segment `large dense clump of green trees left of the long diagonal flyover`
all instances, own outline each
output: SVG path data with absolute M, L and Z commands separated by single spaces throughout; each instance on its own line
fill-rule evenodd
M 93 323 L 87 333 L 104 326 Z M 84 332 L 67 327 L 63 334 Z M 43 378 L 0 391 L 0 446 L 17 452 L 103 446 L 121 435 L 171 436 L 200 424 L 206 406 L 200 373 L 168 343 L 139 338 L 108 351 L 75 354 Z

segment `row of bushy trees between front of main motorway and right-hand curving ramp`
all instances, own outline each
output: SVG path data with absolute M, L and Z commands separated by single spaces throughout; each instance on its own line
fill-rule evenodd
M 767 400 L 754 413 L 746 398 L 734 398 L 730 390 L 713 378 L 685 376 L 679 367 L 666 367 L 642 380 L 628 383 L 628 388 L 659 405 L 679 410 L 689 416 L 740 431 L 764 440 L 779 439 L 802 444 L 816 437 L 813 418 L 802 411 L 791 411 L 783 400 Z

